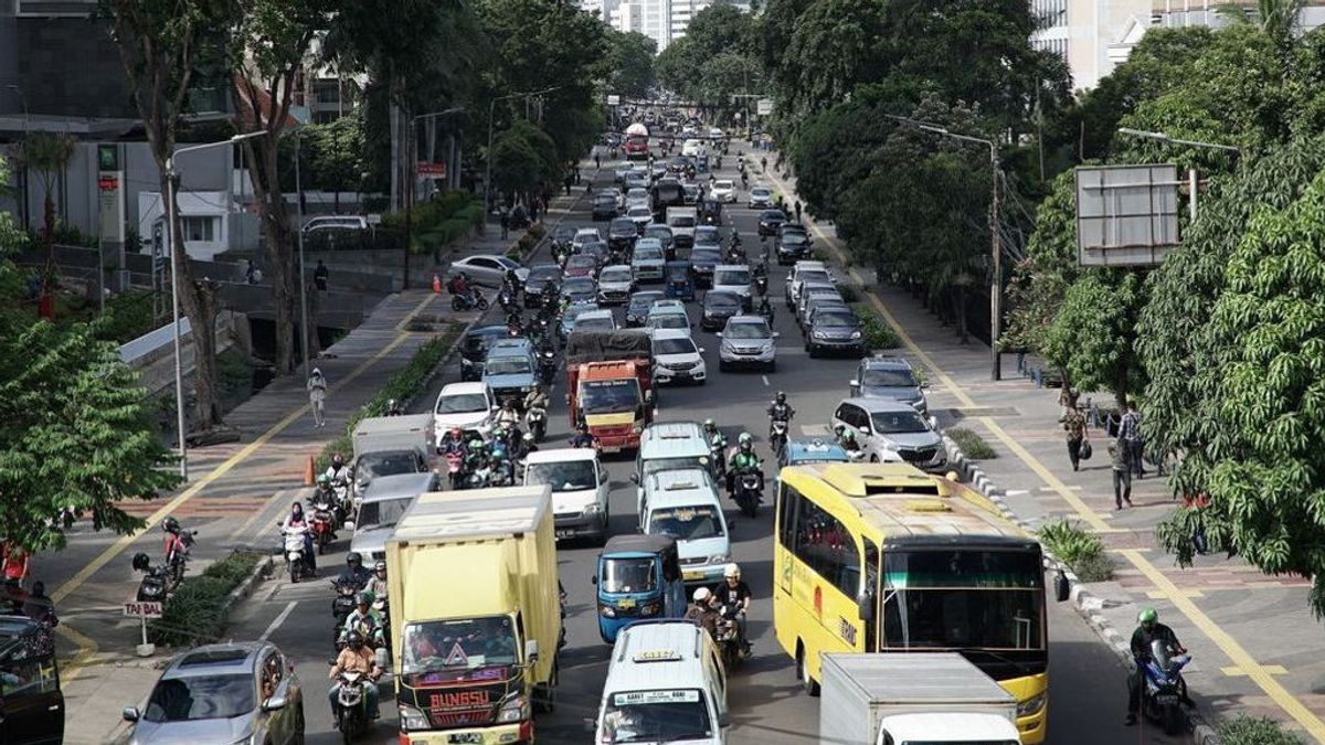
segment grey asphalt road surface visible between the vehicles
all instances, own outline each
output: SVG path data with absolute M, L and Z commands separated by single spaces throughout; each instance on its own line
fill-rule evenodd
M 734 176 L 737 147 L 725 159 L 723 175 Z M 606 166 L 606 163 L 604 163 Z M 755 166 L 758 170 L 758 166 Z M 592 168 L 584 170 L 586 178 Z M 604 170 L 600 180 L 611 180 Z M 761 179 L 751 178 L 751 186 Z M 739 180 L 738 180 L 739 183 Z M 583 191 L 583 186 L 579 187 Z M 743 198 L 743 192 L 741 195 Z M 591 224 L 587 204 L 580 200 L 578 209 L 567 217 L 576 225 Z M 735 225 L 745 239 L 747 251 L 759 245 L 755 235 L 754 212 L 743 205 L 729 205 L 725 221 Z M 606 224 L 599 224 L 606 228 Z M 782 297 L 787 269 L 771 268 L 770 292 Z M 710 379 L 705 386 L 661 392 L 660 419 L 704 420 L 713 418 L 729 439 L 741 431 L 750 431 L 757 439 L 757 449 L 768 460 L 763 433 L 767 420 L 763 415 L 768 400 L 778 390 L 787 391 L 798 411 L 794 435 L 823 431 L 832 407 L 847 391 L 855 359 L 814 359 L 804 353 L 800 331 L 788 317 L 784 305 L 776 305 L 778 371 L 718 372 L 718 339 L 696 327 L 696 341 L 705 347 Z M 452 374 L 447 382 L 456 379 Z M 554 391 L 553 427 L 545 448 L 558 447 L 567 432 L 567 418 L 562 402 L 563 383 Z M 427 407 L 431 398 L 423 403 Z M 628 481 L 633 461 L 615 459 L 608 463 L 612 475 L 612 529 L 613 533 L 633 530 L 633 485 Z M 767 471 L 771 473 L 771 467 Z M 754 520 L 738 514 L 730 501 L 727 521 L 733 528 L 733 554 L 743 569 L 754 591 L 755 603 L 750 614 L 750 632 L 754 656 L 743 667 L 731 672 L 729 687 L 733 712 L 730 741 L 735 744 L 798 744 L 818 740 L 819 701 L 804 695 L 794 675 L 792 660 L 782 652 L 771 630 L 771 574 L 772 574 L 772 517 L 766 505 Z M 338 545 L 343 551 L 344 544 Z M 558 711 L 538 722 L 542 742 L 584 742 L 591 734 L 586 720 L 598 711 L 602 683 L 607 671 L 610 647 L 598 635 L 594 604 L 594 586 L 590 577 L 598 550 L 587 545 L 559 547 L 559 573 L 568 594 L 567 647 L 560 655 L 560 689 Z M 330 575 L 342 566 L 343 553 L 327 554 L 319 561 L 322 574 Z M 238 614 L 233 628 L 235 639 L 266 635 L 286 651 L 295 663 L 305 687 L 307 741 L 310 744 L 335 742 L 330 708 L 326 703 L 327 659 L 331 656 L 331 593 L 327 582 L 305 582 L 294 586 L 276 579 Z M 1049 741 L 1073 745 L 1117 745 L 1122 742 L 1171 742 L 1153 728 L 1125 728 L 1125 671 L 1086 623 L 1065 604 L 1049 607 Z M 383 718 L 364 738 L 366 742 L 396 742 L 395 713 L 391 705 L 390 684 L 383 685 Z

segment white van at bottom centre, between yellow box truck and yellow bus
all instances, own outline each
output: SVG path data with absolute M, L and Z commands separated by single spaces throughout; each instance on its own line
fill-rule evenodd
M 726 671 L 698 626 L 636 622 L 616 636 L 594 741 L 725 745 Z

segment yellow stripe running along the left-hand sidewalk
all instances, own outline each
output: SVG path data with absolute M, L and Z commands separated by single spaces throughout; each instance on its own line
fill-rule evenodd
M 419 312 L 421 312 L 429 302 L 433 301 L 433 297 L 435 296 L 429 294 L 421 302 L 419 302 L 419 305 L 416 305 L 415 309 L 411 310 L 409 314 L 405 315 L 405 321 L 403 321 L 401 323 L 404 323 L 408 319 L 413 318 L 415 314 L 417 314 Z M 398 323 L 398 326 L 396 326 L 398 330 L 401 326 L 401 323 Z M 344 378 L 342 378 L 338 383 L 330 386 L 330 390 L 335 391 L 335 390 L 342 388 L 343 386 L 347 386 L 351 380 L 356 379 L 359 375 L 363 375 L 363 372 L 366 372 L 370 367 L 372 367 L 374 365 L 376 365 L 382 358 L 384 358 L 388 354 L 391 354 L 392 351 L 395 351 L 395 349 L 399 347 L 401 343 L 404 343 L 404 341 L 408 339 L 408 338 L 409 338 L 409 334 L 407 334 L 407 333 L 398 333 L 396 338 L 392 339 L 391 343 L 388 343 L 387 346 L 382 347 L 376 354 L 374 354 L 368 359 L 360 362 L 354 370 L 350 371 L 348 375 L 346 375 Z M 227 473 L 231 472 L 232 468 L 235 468 L 240 463 L 248 460 L 248 457 L 250 455 L 253 455 L 254 452 L 257 452 L 258 448 L 261 448 L 262 445 L 265 445 L 266 443 L 269 443 L 272 440 L 272 437 L 274 437 L 274 436 L 280 435 L 281 432 L 284 432 L 290 424 L 293 424 L 301 416 L 303 416 L 305 414 L 307 414 L 307 411 L 309 411 L 309 404 L 306 404 L 306 403 L 302 404 L 302 406 L 299 406 L 299 407 L 297 407 L 297 408 L 290 410 L 289 414 L 286 414 L 284 418 L 281 418 L 281 420 L 277 422 L 276 424 L 273 424 L 269 430 L 266 430 L 265 432 L 262 432 L 256 440 L 253 440 L 252 443 L 249 443 L 249 444 L 244 445 L 242 448 L 240 448 L 240 451 L 236 452 L 235 455 L 232 455 L 231 457 L 228 457 L 225 460 L 225 463 L 221 463 L 220 465 L 217 465 L 212 471 L 207 472 L 201 479 L 199 479 L 197 481 L 195 481 L 187 489 L 184 489 L 183 492 L 180 492 L 175 498 L 172 498 L 171 501 L 166 502 L 166 505 L 163 505 L 160 509 L 158 509 L 150 517 L 147 517 L 147 521 L 146 521 L 146 524 L 143 525 L 143 528 L 140 530 L 135 530 L 134 533 L 129 533 L 129 534 L 121 536 L 118 541 L 115 541 L 114 544 L 111 544 L 97 558 L 94 558 L 93 561 L 87 562 L 87 566 L 82 567 L 77 574 L 74 574 L 72 578 L 69 578 L 68 581 L 65 581 L 64 585 L 61 585 L 53 593 L 50 593 L 50 601 L 53 603 L 58 604 L 61 601 L 64 601 L 65 598 L 68 598 L 72 593 L 74 593 L 76 590 L 78 590 L 80 587 L 82 587 L 83 583 L 87 582 L 89 578 L 91 578 L 93 574 L 95 574 L 97 571 L 99 571 L 103 566 L 106 566 L 115 557 L 118 557 L 121 553 L 123 553 L 123 550 L 126 547 L 129 547 L 134 541 L 136 541 L 144 533 L 147 533 L 148 530 L 151 530 L 152 528 L 155 528 L 156 524 L 159 524 L 162 520 L 166 520 L 167 516 L 170 516 L 172 512 L 175 512 L 176 509 L 179 509 L 184 502 L 187 502 L 191 498 L 193 498 L 195 496 L 197 496 L 199 492 L 201 492 L 203 489 L 205 489 L 212 481 L 216 481 L 221 476 L 225 476 Z M 87 663 L 91 659 L 91 655 L 94 654 L 94 651 L 97 648 L 97 644 L 95 644 L 95 642 L 93 642 L 87 636 L 83 636 L 82 634 L 80 634 L 78 631 L 76 631 L 73 628 L 69 628 L 68 626 L 69 626 L 68 623 L 64 623 L 58 628 L 60 628 L 61 634 L 65 635 L 65 638 L 68 638 L 76 646 L 78 646 L 78 650 L 80 650 L 78 655 L 74 658 L 74 660 L 69 665 L 66 665 L 66 672 L 64 673 L 68 677 L 73 677 L 83 667 L 87 665 Z

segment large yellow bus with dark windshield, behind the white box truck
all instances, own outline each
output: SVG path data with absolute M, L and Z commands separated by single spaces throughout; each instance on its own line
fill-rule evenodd
M 961 652 L 1044 742 L 1040 545 L 978 493 L 906 464 L 783 468 L 772 622 L 811 695 L 824 652 Z

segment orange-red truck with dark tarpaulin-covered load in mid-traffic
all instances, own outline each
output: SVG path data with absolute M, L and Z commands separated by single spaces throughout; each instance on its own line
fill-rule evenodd
M 599 449 L 640 447 L 653 422 L 653 347 L 647 331 L 572 331 L 566 341 L 571 427 L 582 422 Z

